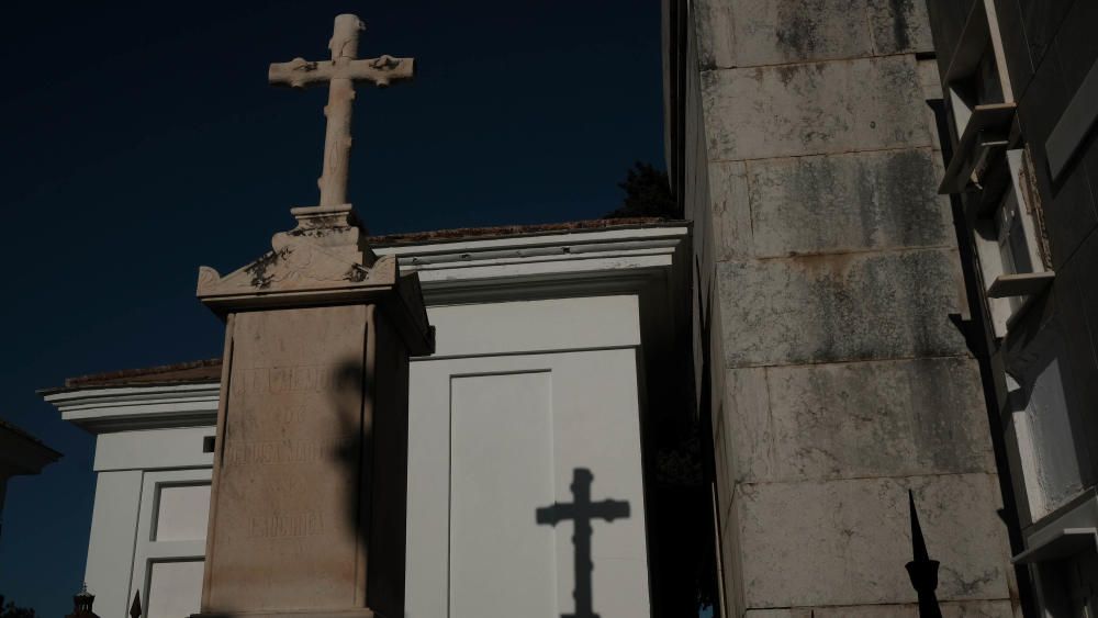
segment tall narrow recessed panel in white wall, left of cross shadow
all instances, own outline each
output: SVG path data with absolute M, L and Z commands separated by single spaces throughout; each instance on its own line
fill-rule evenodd
M 556 616 L 549 372 L 450 382 L 450 617 Z

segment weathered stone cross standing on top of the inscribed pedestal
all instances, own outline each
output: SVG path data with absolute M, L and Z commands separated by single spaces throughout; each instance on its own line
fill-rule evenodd
M 289 63 L 274 63 L 267 79 L 276 86 L 305 88 L 328 83 L 328 104 L 324 115 L 328 119 L 324 133 L 324 169 L 317 184 L 321 188 L 321 206 L 347 203 L 347 168 L 350 161 L 350 114 L 355 100 L 355 82 L 370 82 L 379 87 L 412 79 L 414 58 L 357 59 L 358 33 L 366 29 L 356 15 L 336 16 L 332 41 L 332 60 L 309 61 L 294 58 Z

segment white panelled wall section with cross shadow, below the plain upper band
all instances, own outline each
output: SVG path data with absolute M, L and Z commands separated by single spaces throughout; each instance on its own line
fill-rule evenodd
M 637 353 L 413 363 L 408 617 L 649 615 Z

